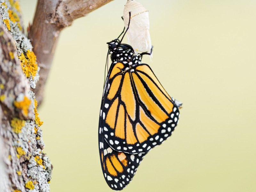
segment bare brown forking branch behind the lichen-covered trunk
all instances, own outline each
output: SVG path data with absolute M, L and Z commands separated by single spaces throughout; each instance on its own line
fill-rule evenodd
M 44 85 L 47 80 L 60 31 L 93 10 L 112 0 L 39 0 L 28 36 L 34 47 L 39 66 L 40 80 L 35 93 L 38 104 L 42 102 Z

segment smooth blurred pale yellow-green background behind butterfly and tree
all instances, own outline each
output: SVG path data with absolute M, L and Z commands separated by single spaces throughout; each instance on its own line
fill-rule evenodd
M 124 191 L 256 191 L 256 1 L 137 0 L 150 14 L 153 60 L 183 102 L 180 124 L 144 158 Z M 61 32 L 39 115 L 54 166 L 51 191 L 111 191 L 98 120 L 106 42 L 123 29 L 115 0 Z M 24 23 L 35 0 L 21 0 Z

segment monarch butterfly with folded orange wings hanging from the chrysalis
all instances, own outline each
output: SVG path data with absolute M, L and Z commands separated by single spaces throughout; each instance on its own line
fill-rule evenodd
M 129 24 L 124 35 L 128 29 Z M 121 43 L 124 35 L 107 43 L 112 63 L 99 119 L 101 168 L 114 190 L 126 187 L 148 151 L 171 136 L 181 105 L 168 95 L 151 68 L 141 63 L 152 49 L 135 55 L 132 46 Z

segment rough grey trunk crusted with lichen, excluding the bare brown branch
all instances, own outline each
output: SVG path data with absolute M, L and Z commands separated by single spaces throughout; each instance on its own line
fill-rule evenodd
M 21 28 L 17 2 L 0 0 L 3 21 L 0 22 L 0 142 L 4 144 L 0 143 L 0 176 L 8 175 L 0 178 L 0 191 L 48 192 L 52 164 L 42 152 L 40 126 L 43 122 L 38 117 L 35 94 L 31 90 L 36 87 L 40 68 Z M 18 57 L 22 55 L 27 63 L 21 67 Z M 34 68 L 26 68 L 30 64 Z M 27 73 L 28 70 L 34 70 L 34 75 Z M 2 173 L 3 162 L 7 174 Z

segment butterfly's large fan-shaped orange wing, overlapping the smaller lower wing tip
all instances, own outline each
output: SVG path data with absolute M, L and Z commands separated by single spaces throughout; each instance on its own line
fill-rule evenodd
M 125 68 L 118 62 L 109 74 L 100 128 L 116 151 L 147 153 L 171 135 L 179 109 L 148 65 Z

